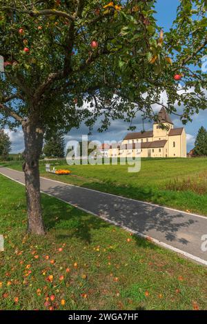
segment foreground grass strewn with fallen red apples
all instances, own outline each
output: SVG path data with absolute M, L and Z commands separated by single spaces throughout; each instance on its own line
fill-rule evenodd
M 207 308 L 206 267 L 45 194 L 48 234 L 27 236 L 24 190 L 0 175 L 1 310 Z

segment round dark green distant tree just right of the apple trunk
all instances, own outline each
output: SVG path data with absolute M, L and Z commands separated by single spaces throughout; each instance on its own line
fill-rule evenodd
M 43 154 L 46 154 L 47 157 L 55 158 L 65 156 L 65 140 L 61 132 L 57 132 L 46 138 Z

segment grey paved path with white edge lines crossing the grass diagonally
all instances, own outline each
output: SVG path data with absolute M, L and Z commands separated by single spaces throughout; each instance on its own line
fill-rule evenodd
M 0 168 L 0 173 L 24 184 L 23 172 Z M 188 214 L 46 178 L 41 178 L 41 191 L 141 236 L 150 236 L 155 243 L 207 265 L 207 251 L 201 250 L 201 236 L 207 234 L 207 216 Z

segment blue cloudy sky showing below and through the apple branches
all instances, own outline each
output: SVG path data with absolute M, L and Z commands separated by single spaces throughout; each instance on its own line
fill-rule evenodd
M 177 6 L 179 6 L 179 0 L 157 0 L 156 4 L 156 19 L 159 26 L 164 28 L 164 31 L 168 31 L 170 26 L 172 26 L 172 21 L 176 17 Z M 177 119 L 177 117 L 172 116 L 172 121 L 175 127 L 182 127 L 183 125 Z M 135 125 L 137 125 L 137 131 L 141 130 L 141 120 L 137 118 L 135 120 Z M 193 148 L 195 142 L 195 136 L 199 128 L 203 125 L 207 128 L 207 110 L 201 111 L 199 114 L 193 117 L 193 122 L 185 125 L 187 134 L 187 150 L 189 151 Z M 146 123 L 146 130 L 152 129 L 152 124 Z M 128 129 L 128 124 L 124 121 L 113 121 L 108 128 L 107 132 L 97 133 L 96 128 L 92 133 L 91 139 L 97 139 L 101 142 L 103 141 L 120 141 L 126 135 Z M 66 142 L 69 140 L 80 140 L 81 134 L 88 134 L 88 129 L 85 125 L 81 125 L 79 130 L 72 130 L 70 134 L 66 135 Z M 23 151 L 23 135 L 22 132 L 10 133 L 12 140 L 12 152 L 22 152 Z

